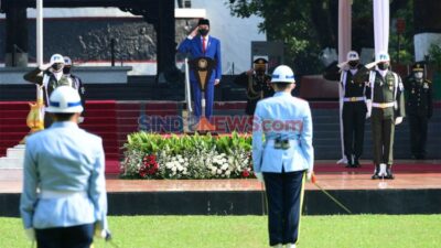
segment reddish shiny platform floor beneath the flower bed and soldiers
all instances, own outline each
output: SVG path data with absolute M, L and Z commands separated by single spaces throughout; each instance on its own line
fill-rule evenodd
M 334 161 L 318 161 L 316 183 L 325 190 L 441 188 L 441 161 L 397 161 L 395 180 L 370 180 L 373 165 L 362 161 L 361 169 L 345 169 Z M 0 170 L 0 193 L 20 193 L 22 170 Z M 262 185 L 249 180 L 120 180 L 107 175 L 108 192 L 197 192 L 260 191 Z M 318 190 L 306 183 L 306 190 Z

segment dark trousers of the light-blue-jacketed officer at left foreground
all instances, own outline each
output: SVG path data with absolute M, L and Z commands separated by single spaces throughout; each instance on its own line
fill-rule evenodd
M 37 248 L 90 248 L 94 224 L 35 229 Z

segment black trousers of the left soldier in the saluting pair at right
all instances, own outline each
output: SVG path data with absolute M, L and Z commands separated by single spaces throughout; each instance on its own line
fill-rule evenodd
M 348 160 L 351 155 L 358 159 L 363 153 L 366 112 L 365 101 L 348 101 L 343 104 L 343 142 L 344 153 Z

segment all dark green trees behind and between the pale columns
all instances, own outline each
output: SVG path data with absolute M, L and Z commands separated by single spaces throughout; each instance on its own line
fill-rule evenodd
M 299 75 L 320 74 L 323 65 L 320 54 L 323 48 L 337 48 L 338 1 L 332 0 L 225 0 L 232 15 L 249 18 L 261 17 L 260 31 L 267 33 L 269 41 L 283 41 L 286 63 L 293 66 Z M 390 4 L 390 20 L 406 20 L 406 30 L 398 34 L 391 26 L 389 53 L 391 60 L 399 54 L 400 64 L 413 61 L 413 1 L 395 1 Z M 353 1 L 353 50 L 374 47 L 373 0 Z M 396 62 L 396 61 L 395 61 Z

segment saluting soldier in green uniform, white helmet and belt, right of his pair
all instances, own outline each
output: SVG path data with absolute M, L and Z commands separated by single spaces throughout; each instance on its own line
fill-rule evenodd
M 376 56 L 376 69 L 369 73 L 372 89 L 372 131 L 374 145 L 375 179 L 394 179 L 395 126 L 401 123 L 405 112 L 404 85 L 398 74 L 389 69 L 389 54 L 380 52 Z M 380 168 L 386 164 L 386 168 Z

